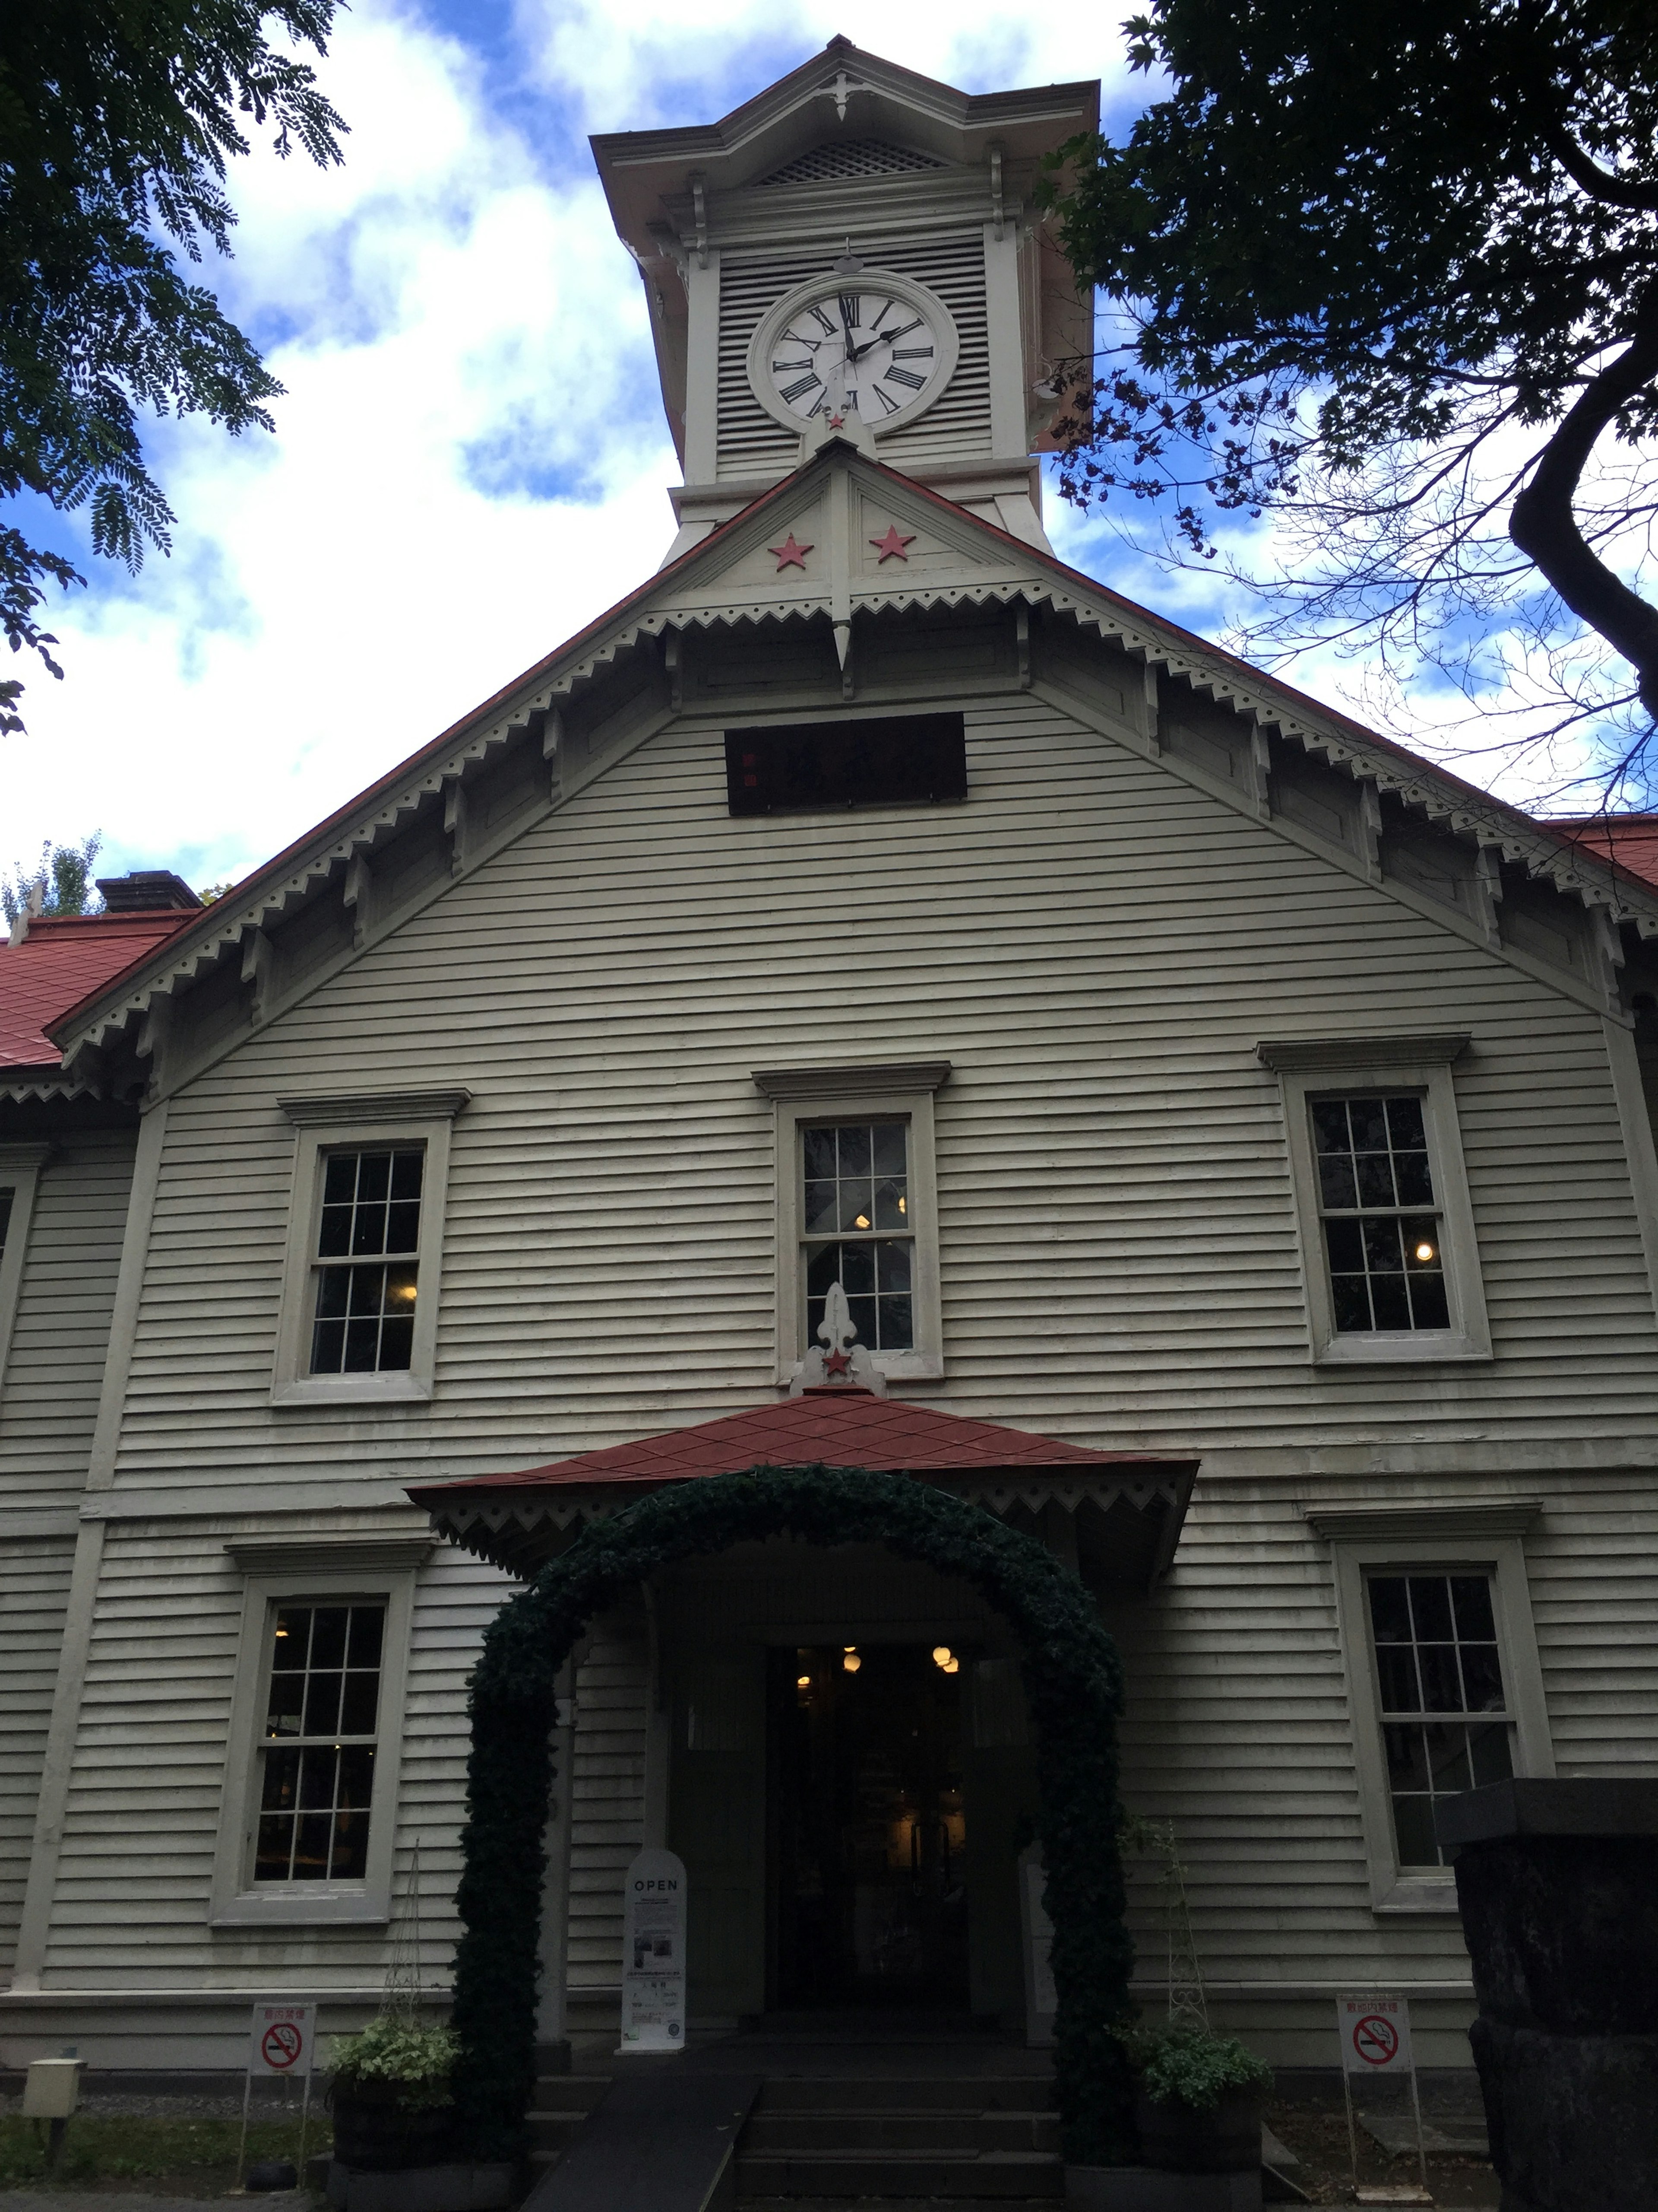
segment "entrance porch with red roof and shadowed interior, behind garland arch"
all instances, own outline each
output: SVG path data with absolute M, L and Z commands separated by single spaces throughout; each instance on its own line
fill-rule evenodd
M 438 1528 L 531 1575 L 650 1489 L 862 1467 L 988 1506 L 1096 1597 L 1174 1553 L 1192 1460 L 1088 1451 L 847 1385 L 524 1475 L 422 1486 Z M 1019 1644 L 968 1575 L 880 1544 L 738 1542 L 590 1624 L 562 1679 L 542 1918 L 544 2068 L 619 2026 L 621 1882 L 685 1860 L 694 2037 L 924 2008 L 1041 2039 L 1037 1763 Z M 1032 1942 L 1035 1933 L 1035 1942 Z

